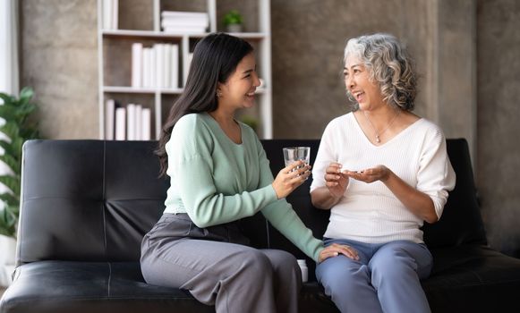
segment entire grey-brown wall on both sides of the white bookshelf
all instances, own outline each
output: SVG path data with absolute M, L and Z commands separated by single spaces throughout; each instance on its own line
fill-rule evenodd
M 348 111 L 345 40 L 393 33 L 422 74 L 416 113 L 472 146 L 490 244 L 520 257 L 518 1 L 271 0 L 271 13 L 276 138 L 320 138 Z M 21 86 L 47 138 L 98 138 L 96 16 L 96 0 L 21 1 Z

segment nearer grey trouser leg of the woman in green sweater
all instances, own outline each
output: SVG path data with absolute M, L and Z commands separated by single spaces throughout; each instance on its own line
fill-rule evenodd
M 218 241 L 159 240 L 142 255 L 141 270 L 148 283 L 188 290 L 217 312 L 276 312 L 273 266 L 260 250 Z

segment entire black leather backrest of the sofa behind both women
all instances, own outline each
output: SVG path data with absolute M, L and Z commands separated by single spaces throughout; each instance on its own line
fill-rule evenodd
M 312 164 L 320 140 L 262 140 L 262 144 L 276 175 L 284 167 L 283 147 L 310 146 Z M 17 264 L 45 259 L 139 260 L 141 238 L 162 214 L 169 185 L 158 179 L 156 146 L 155 141 L 26 142 Z M 456 189 L 450 192 L 440 221 L 424 226 L 430 248 L 485 242 L 466 141 L 448 140 L 448 154 L 457 174 Z M 310 184 L 311 180 L 305 182 L 287 200 L 321 238 L 329 212 L 312 207 Z M 255 247 L 304 257 L 261 214 L 243 224 Z

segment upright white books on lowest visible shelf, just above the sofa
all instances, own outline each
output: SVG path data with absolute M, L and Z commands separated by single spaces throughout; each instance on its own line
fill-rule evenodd
M 105 106 L 106 140 L 150 140 L 151 110 L 141 105 L 116 106 L 107 99 Z

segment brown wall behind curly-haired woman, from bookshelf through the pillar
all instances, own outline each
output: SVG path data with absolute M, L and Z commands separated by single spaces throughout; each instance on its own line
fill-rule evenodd
M 350 106 L 341 78 L 348 38 L 388 32 L 421 79 L 416 114 L 475 151 L 476 5 L 471 0 L 272 1 L 275 137 L 317 138 Z

